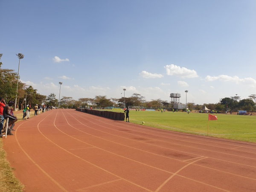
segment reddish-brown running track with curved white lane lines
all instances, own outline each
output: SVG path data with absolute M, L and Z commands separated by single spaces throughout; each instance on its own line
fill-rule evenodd
M 256 191 L 256 144 L 164 131 L 70 109 L 3 139 L 26 192 Z

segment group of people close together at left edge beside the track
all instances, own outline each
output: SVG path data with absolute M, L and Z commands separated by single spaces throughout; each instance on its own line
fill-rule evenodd
M 13 127 L 15 126 L 15 122 L 18 119 L 13 114 L 13 108 L 12 108 L 13 105 L 14 105 L 13 101 L 9 101 L 8 104 L 6 104 L 5 100 L 3 98 L 0 98 L 0 137 L 3 137 L 2 130 L 4 125 L 4 120 L 7 118 L 9 118 L 9 122 L 6 127 L 7 135 L 13 135 L 12 131 L 15 131 Z

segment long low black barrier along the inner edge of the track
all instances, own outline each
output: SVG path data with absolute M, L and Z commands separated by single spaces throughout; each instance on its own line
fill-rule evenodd
M 76 108 L 76 111 L 80 111 L 83 113 L 88 113 L 91 115 L 96 115 L 96 116 L 102 116 L 108 119 L 115 119 L 119 121 L 124 121 L 125 120 L 125 113 L 117 113 L 113 111 L 99 111 L 99 110 L 93 110 L 93 109 L 83 109 L 83 108 Z

